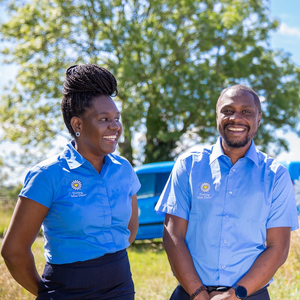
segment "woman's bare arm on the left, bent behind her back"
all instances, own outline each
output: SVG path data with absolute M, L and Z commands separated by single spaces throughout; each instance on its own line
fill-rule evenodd
M 48 211 L 49 208 L 38 202 L 19 197 L 1 247 L 1 255 L 12 277 L 36 296 L 41 277 L 31 246 Z

